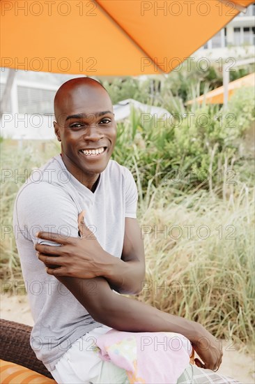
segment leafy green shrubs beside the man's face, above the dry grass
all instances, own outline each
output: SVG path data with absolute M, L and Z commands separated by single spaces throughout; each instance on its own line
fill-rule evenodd
M 236 91 L 226 110 L 202 105 L 185 112 L 184 118 L 181 113 L 166 122 L 151 118 L 142 123 L 133 110 L 129 121 L 118 124 L 113 158 L 135 170 L 137 180 L 140 173 L 141 195 L 148 182 L 157 187 L 165 179 L 181 191 L 237 182 L 234 165 L 242 160 L 238 140 L 254 121 L 252 90 Z M 246 181 L 252 185 L 252 173 Z

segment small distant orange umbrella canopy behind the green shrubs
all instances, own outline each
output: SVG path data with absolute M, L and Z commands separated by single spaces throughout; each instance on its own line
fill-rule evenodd
M 250 73 L 247 76 L 240 77 L 238 80 L 234 80 L 229 83 L 229 99 L 233 96 L 235 89 L 243 88 L 243 87 L 254 87 L 255 85 L 255 73 Z M 224 103 L 224 87 L 213 89 L 205 95 L 201 95 L 198 98 L 194 98 L 194 100 L 190 100 L 187 104 L 193 103 L 206 103 L 206 104 L 223 104 Z

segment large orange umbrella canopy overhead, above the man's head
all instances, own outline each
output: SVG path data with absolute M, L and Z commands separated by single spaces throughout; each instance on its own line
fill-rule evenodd
M 253 0 L 2 0 L 1 66 L 86 75 L 169 73 Z

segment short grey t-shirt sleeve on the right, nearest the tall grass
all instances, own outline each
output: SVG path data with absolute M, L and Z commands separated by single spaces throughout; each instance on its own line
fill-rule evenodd
M 130 170 L 125 168 L 125 217 L 137 218 L 137 184 Z

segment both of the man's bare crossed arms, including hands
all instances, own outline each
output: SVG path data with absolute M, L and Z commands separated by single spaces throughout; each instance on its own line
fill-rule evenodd
M 91 314 L 94 320 L 126 332 L 177 332 L 190 339 L 203 363 L 199 367 L 217 369 L 222 351 L 215 337 L 194 321 L 164 313 L 119 293 L 139 293 L 144 279 L 144 243 L 136 219 L 125 219 L 121 260 L 105 252 L 93 233 L 79 221 L 82 239 L 40 232 L 38 237 L 62 244 L 36 244 L 38 258 Z M 49 256 L 51 255 L 51 256 Z M 54 269 L 52 267 L 60 265 Z

